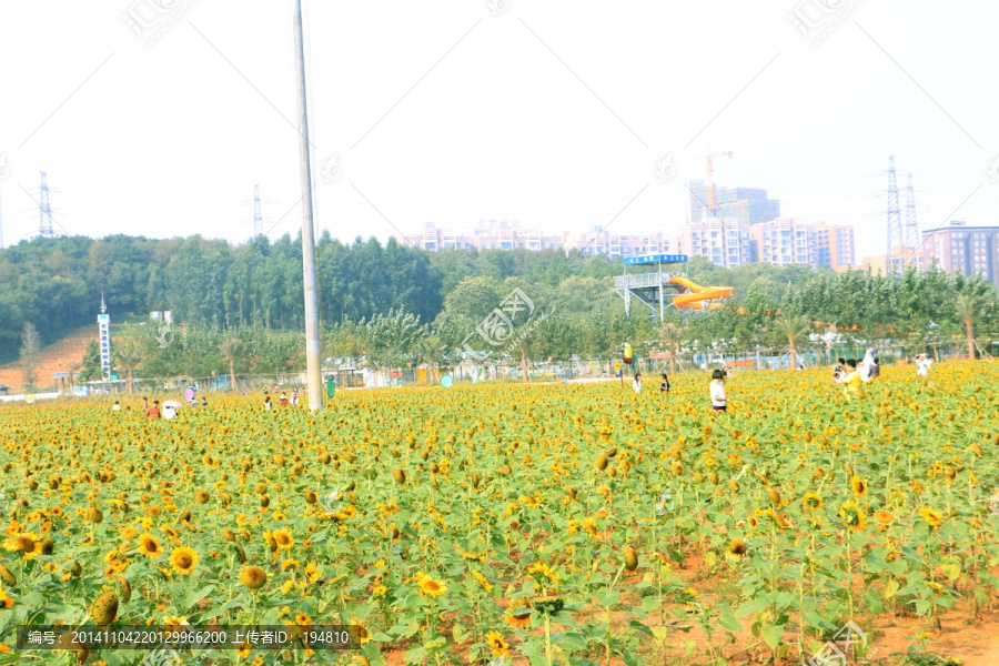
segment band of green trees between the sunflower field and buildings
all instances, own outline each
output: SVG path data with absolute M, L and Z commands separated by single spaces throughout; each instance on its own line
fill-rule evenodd
M 376 367 L 461 357 L 523 366 L 609 359 L 625 342 L 642 355 L 670 345 L 789 350 L 830 325 L 864 344 L 916 351 L 958 335 L 988 349 L 999 323 L 990 283 L 936 269 L 898 276 L 803 265 L 725 270 L 693 258 L 692 280 L 734 286 L 735 295 L 716 310 L 670 311 L 663 326 L 635 301 L 625 314 L 613 280 L 619 260 L 561 251 L 426 253 L 395 240 L 344 244 L 324 234 L 316 265 L 325 355 Z M 27 324 L 43 343 L 91 324 L 102 293 L 112 321 L 174 313 L 171 344 L 148 325 L 112 345 L 117 366 L 137 376 L 270 374 L 304 365 L 301 242 L 290 235 L 242 245 L 201 236 L 73 236 L 2 250 L 0 360 L 23 351 Z M 94 359 L 95 343 L 84 367 L 99 376 Z

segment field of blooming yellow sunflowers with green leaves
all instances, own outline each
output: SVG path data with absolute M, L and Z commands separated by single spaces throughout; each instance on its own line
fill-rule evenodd
M 26 624 L 361 643 L 199 664 L 805 664 L 850 620 L 877 645 L 884 618 L 931 647 L 999 593 L 999 367 L 888 367 L 849 398 L 829 375 L 740 374 L 727 413 L 702 374 L 668 396 L 342 392 L 319 415 L 0 408 L 0 663 L 145 656 L 18 650 Z

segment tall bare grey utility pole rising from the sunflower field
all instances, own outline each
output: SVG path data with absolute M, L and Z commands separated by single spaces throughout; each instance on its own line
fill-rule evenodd
M 295 0 L 295 78 L 299 84 L 299 148 L 302 158 L 302 269 L 305 286 L 305 379 L 309 411 L 323 408 L 323 366 L 320 349 L 319 291 L 315 280 L 315 232 L 312 210 L 312 164 L 309 151 L 309 104 L 305 98 L 305 44 L 302 0 Z

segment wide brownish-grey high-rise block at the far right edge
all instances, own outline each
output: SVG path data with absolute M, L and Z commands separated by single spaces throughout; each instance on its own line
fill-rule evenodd
M 999 286 L 999 226 L 969 226 L 952 221 L 949 226 L 922 232 L 922 266 L 966 278 L 981 275 Z

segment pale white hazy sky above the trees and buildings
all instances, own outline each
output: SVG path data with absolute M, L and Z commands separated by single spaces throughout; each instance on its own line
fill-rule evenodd
M 0 4 L 4 243 L 37 234 L 42 170 L 57 231 L 244 241 L 259 183 L 269 236 L 294 235 L 292 9 Z M 999 155 L 996 3 L 304 9 L 316 226 L 343 240 L 415 234 L 425 221 L 471 230 L 481 219 L 675 233 L 684 182 L 704 176 L 695 158 L 708 147 L 734 152 L 716 161 L 718 184 L 766 188 L 785 216 L 854 224 L 858 259 L 884 251 L 889 154 L 902 211 L 915 173 L 925 229 L 958 206 L 953 219 L 999 223 L 999 178 L 988 173 Z M 825 23 L 809 41 L 789 14 Z M 664 182 L 655 167 L 668 154 L 676 173 Z

